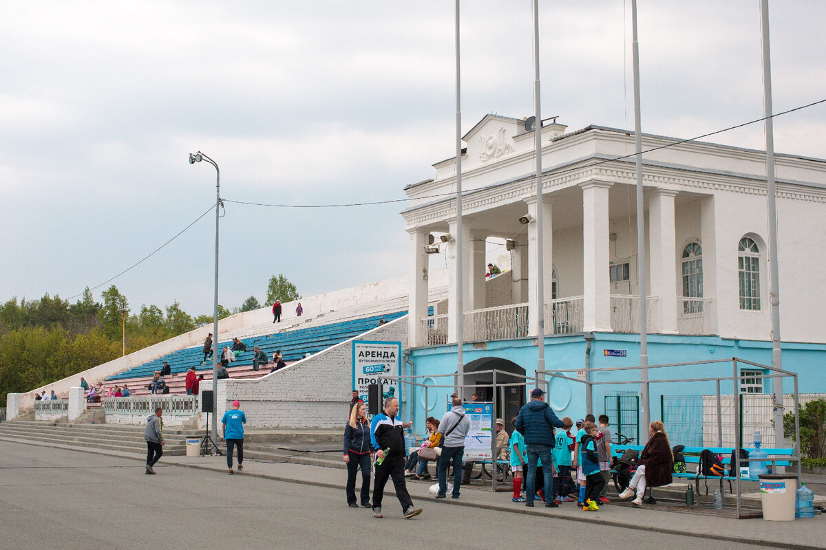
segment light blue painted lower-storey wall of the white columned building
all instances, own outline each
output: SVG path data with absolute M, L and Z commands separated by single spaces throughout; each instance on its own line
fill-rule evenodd
M 604 355 L 605 350 L 625 350 L 625 357 Z M 798 374 L 798 390 L 800 393 L 826 393 L 826 345 L 819 344 L 782 344 L 783 369 Z M 582 335 L 577 336 L 548 336 L 545 339 L 545 369 L 582 369 L 585 365 L 586 341 Z M 525 369 L 525 374 L 534 376 L 536 371 L 536 341 L 530 338 L 477 342 L 466 344 L 463 348 L 465 364 L 483 357 L 500 357 L 513 361 Z M 770 341 L 732 341 L 724 340 L 719 336 L 648 336 L 648 364 L 672 364 L 709 360 L 725 360 L 737 357 L 758 364 L 771 364 Z M 413 361 L 413 374 L 434 377 L 436 374 L 453 374 L 457 367 L 456 346 L 421 347 L 410 350 L 410 360 Z M 591 346 L 591 368 L 630 367 L 639 364 L 639 336 L 636 334 L 595 333 Z M 752 368 L 748 364 L 738 364 L 739 369 Z M 409 371 L 408 371 L 409 374 Z M 577 378 L 576 372 L 565 373 Z M 680 378 L 714 378 L 721 375 L 733 374 L 732 362 L 692 365 L 690 367 L 671 367 L 650 369 L 648 377 L 650 385 L 651 418 L 660 417 L 660 395 L 681 396 L 716 393 L 713 381 L 657 383 L 657 379 Z M 606 394 L 614 395 L 619 392 L 638 393 L 638 383 L 621 383 L 622 381 L 637 381 L 638 370 L 613 371 L 611 373 L 595 373 L 594 382 L 608 382 L 596 384 L 593 388 L 593 403 L 595 415 L 604 411 Z M 441 418 L 445 411 L 447 397 L 453 393 L 453 377 L 427 378 L 420 383 L 430 385 L 447 385 L 449 388 L 430 388 L 425 414 L 425 393 L 422 388 L 415 388 L 414 400 L 414 431 L 421 433 L 425 418 L 435 416 Z M 771 393 L 772 380 L 767 379 L 764 393 Z M 533 388 L 533 384 L 529 384 Z M 784 381 L 783 391 L 793 392 L 791 378 Z M 731 381 L 721 383 L 721 393 L 733 393 Z M 582 418 L 586 414 L 585 385 L 563 379 L 554 379 L 551 383 L 548 401 L 557 415 L 571 416 L 572 419 Z

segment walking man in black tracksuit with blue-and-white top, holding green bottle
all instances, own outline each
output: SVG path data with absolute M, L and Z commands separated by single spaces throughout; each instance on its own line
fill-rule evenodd
M 396 415 L 399 412 L 399 400 L 387 399 L 384 411 L 373 416 L 370 424 L 370 443 L 376 451 L 376 484 L 373 486 L 373 517 L 382 518 L 382 496 L 387 477 L 392 477 L 396 487 L 396 497 L 401 503 L 401 511 L 406 519 L 421 514 L 421 508 L 415 508 L 405 483 L 405 427 Z M 389 450 L 388 450 L 389 449 Z M 387 454 L 385 454 L 387 453 Z M 379 460 L 382 461 L 379 464 Z

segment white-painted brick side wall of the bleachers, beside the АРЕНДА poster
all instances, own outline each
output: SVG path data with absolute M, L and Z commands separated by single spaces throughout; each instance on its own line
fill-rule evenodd
M 406 348 L 407 318 L 399 317 L 356 339 L 401 341 Z M 343 429 L 353 390 L 352 342 L 341 342 L 263 378 L 218 380 L 218 421 L 238 400 L 249 429 Z

